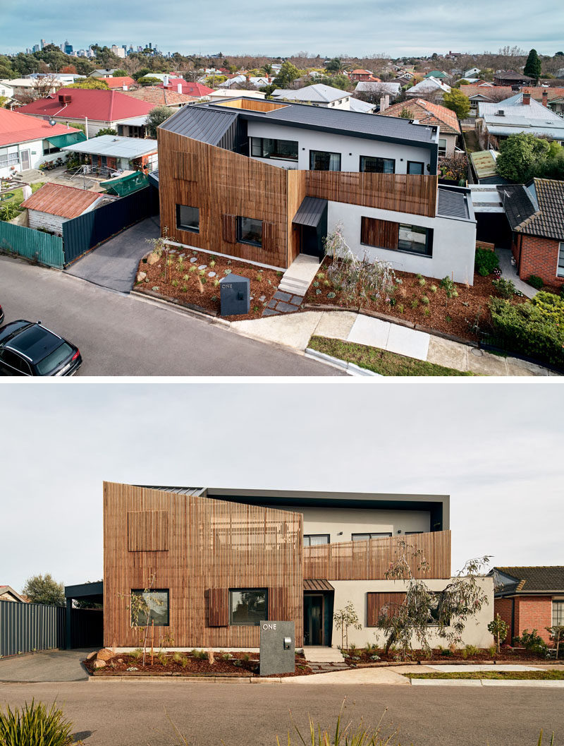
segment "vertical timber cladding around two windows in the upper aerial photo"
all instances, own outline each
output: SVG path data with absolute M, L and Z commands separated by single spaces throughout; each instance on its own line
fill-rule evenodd
M 158 137 L 161 227 L 168 228 L 169 236 L 206 251 L 289 266 L 285 169 L 168 130 L 159 130 Z M 199 208 L 199 233 L 177 228 L 177 204 Z M 263 245 L 226 236 L 224 216 L 262 220 Z

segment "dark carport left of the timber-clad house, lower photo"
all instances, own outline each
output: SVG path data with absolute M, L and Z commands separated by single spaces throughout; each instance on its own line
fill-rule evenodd
M 104 583 L 81 583 L 65 586 L 66 649 L 101 648 L 104 645 L 104 611 L 102 609 L 73 609 L 73 601 L 104 604 Z M 79 611 L 79 613 L 77 613 Z

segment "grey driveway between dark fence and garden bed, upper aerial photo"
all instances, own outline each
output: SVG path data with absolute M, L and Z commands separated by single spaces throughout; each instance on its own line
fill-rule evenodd
M 66 272 L 95 285 L 130 292 L 139 262 L 150 250 L 145 239 L 159 236 L 159 218 L 145 218 L 90 251 Z

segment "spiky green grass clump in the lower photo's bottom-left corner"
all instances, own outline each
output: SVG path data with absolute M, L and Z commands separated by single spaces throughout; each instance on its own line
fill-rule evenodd
M 66 746 L 71 744 L 72 723 L 63 717 L 55 703 L 51 709 L 42 703 L 26 703 L 22 708 L 0 712 L 0 744 L 6 746 Z

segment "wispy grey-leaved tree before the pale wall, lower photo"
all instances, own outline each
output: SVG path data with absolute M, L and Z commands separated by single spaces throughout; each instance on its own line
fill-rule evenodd
M 489 557 L 469 560 L 443 591 L 435 593 L 424 580 L 414 577 L 428 567 L 422 552 L 415 551 L 408 541 L 401 542 L 386 578 L 405 584 L 405 600 L 401 604 L 382 606 L 377 622 L 384 630 L 386 653 L 392 645 L 398 645 L 400 656 L 408 659 L 415 638 L 420 648 L 431 655 L 429 624 L 433 624 L 434 635 L 451 645 L 460 643 L 466 621 L 487 604 L 487 594 L 478 580 L 487 562 Z

